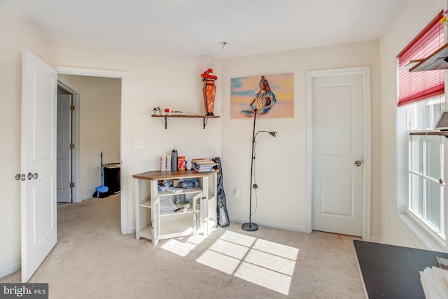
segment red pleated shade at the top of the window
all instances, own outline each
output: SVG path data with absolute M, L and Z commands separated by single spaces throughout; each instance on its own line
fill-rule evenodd
M 409 45 L 398 54 L 398 69 L 411 60 L 423 59 L 444 45 L 440 12 Z M 398 106 L 418 102 L 444 93 L 444 71 L 398 72 Z

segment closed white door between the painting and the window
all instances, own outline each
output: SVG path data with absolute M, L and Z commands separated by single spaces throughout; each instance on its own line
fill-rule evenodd
M 363 231 L 363 75 L 313 78 L 312 229 Z

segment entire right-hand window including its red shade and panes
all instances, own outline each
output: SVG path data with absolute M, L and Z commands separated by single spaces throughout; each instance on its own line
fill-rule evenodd
M 428 57 L 444 45 L 437 15 L 397 56 L 398 69 Z M 398 210 L 447 248 L 444 160 L 446 137 L 428 134 L 446 109 L 444 71 L 398 71 L 398 190 L 406 194 Z

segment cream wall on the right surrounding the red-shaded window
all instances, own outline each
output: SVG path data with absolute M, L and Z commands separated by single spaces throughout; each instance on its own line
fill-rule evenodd
M 388 244 L 424 248 L 416 237 L 403 225 L 396 216 L 397 194 L 395 158 L 395 109 L 396 109 L 396 70 L 395 57 L 425 27 L 435 15 L 446 8 L 445 0 L 412 0 L 406 1 L 400 15 L 381 38 L 381 241 Z M 391 216 L 389 223 L 388 218 Z

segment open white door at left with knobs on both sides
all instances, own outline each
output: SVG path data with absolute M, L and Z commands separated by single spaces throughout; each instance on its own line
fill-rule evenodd
M 22 282 L 27 282 L 57 241 L 57 71 L 29 50 L 22 59 Z

